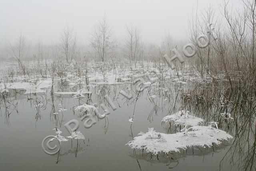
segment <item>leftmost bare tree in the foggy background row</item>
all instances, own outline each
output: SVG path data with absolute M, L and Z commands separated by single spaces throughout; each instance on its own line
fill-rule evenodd
M 24 38 L 24 36 L 22 36 L 22 34 L 20 33 L 20 36 L 17 38 L 16 42 L 14 44 L 10 44 L 10 51 L 9 54 L 16 58 L 16 60 L 18 61 L 18 65 L 19 68 L 22 68 L 22 72 L 25 75 L 26 74 L 26 69 L 24 68 L 24 66 L 22 65 L 22 58 L 25 54 L 25 50 L 26 50 L 26 40 Z

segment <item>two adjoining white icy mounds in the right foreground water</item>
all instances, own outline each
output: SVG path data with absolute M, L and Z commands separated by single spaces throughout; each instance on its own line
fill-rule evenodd
M 164 152 L 180 152 L 180 149 L 188 147 L 212 147 L 213 144 L 220 145 L 221 140 L 232 139 L 233 137 L 218 129 L 217 123 L 212 121 L 207 126 L 196 126 L 204 120 L 194 117 L 194 114 L 188 114 L 189 111 L 181 110 L 172 115 L 167 115 L 162 119 L 163 122 L 171 122 L 174 125 L 184 127 L 180 132 L 173 134 L 157 133 L 154 128 L 148 128 L 147 133 L 140 132 L 139 137 L 135 137 L 127 145 L 134 149 L 146 149 L 154 155 Z M 216 128 L 213 127 L 216 126 Z M 192 126 L 192 127 L 190 127 Z

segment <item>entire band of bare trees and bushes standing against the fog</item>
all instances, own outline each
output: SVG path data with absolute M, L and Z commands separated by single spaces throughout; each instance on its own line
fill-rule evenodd
M 228 2 L 223 1 L 222 21 L 218 20 L 212 7 L 210 6 L 198 14 L 196 10 L 193 13 L 189 27 L 190 43 L 195 45 L 196 55 L 189 62 L 180 64 L 174 61 L 176 72 L 184 69 L 185 65 L 191 66 L 194 71 L 204 77 L 215 78 L 218 74 L 224 73 L 232 84 L 232 76 L 235 72 L 248 72 L 255 74 L 255 34 L 256 34 L 256 14 L 255 0 L 242 0 L 244 4 L 237 12 L 230 13 L 228 11 Z M 224 21 L 224 22 L 223 22 Z M 162 56 L 168 54 L 173 56 L 172 50 L 177 47 L 177 42 L 172 39 L 170 34 L 166 34 L 162 39 L 161 46 L 157 44 L 144 44 L 142 34 L 138 26 L 130 24 L 126 26 L 125 36 L 122 42 L 118 43 L 113 39 L 112 26 L 107 20 L 106 15 L 102 20 L 98 21 L 94 26 L 92 38 L 90 39 L 90 47 L 92 52 L 86 54 L 86 57 L 92 60 L 106 62 L 126 58 L 130 61 L 130 66 L 137 61 L 151 60 L 154 61 L 157 68 L 161 71 L 167 66 Z M 198 46 L 198 36 L 204 34 L 207 37 L 206 48 Z M 200 41 L 205 41 L 201 39 Z M 186 42 L 185 42 L 186 43 Z M 188 42 L 187 42 L 188 43 Z M 183 44 L 185 45 L 185 44 Z M 50 46 L 49 46 L 50 47 Z M 79 52 L 77 46 L 76 33 L 72 28 L 66 26 L 62 31 L 60 40 L 57 45 L 51 46 L 51 50 L 45 48 L 42 42 L 38 42 L 38 50 L 36 57 L 40 60 L 47 60 L 49 56 L 61 58 L 67 63 L 77 58 L 83 58 L 84 53 Z M 22 64 L 25 52 L 28 50 L 24 36 L 20 35 L 14 44 L 10 44 L 9 53 L 13 56 L 26 73 L 26 68 Z M 51 53 L 50 53 L 51 52 Z M 116 58 L 116 59 L 115 59 Z M 110 59 L 110 60 L 109 60 Z M 46 63 L 45 63 L 46 65 Z M 103 65 L 103 64 L 102 64 Z M 47 73 L 45 73 L 47 74 Z

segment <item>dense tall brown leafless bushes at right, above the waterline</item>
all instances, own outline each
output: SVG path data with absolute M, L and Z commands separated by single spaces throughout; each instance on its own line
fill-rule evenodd
M 222 16 L 224 22 L 217 20 L 214 10 L 209 7 L 201 17 L 196 14 L 190 20 L 190 41 L 198 45 L 198 36 L 204 34 L 208 39 L 207 48 L 196 48 L 192 67 L 202 77 L 215 78 L 225 74 L 232 87 L 236 77 L 255 76 L 255 0 L 242 0 L 243 8 L 231 13 L 228 2 L 224 0 Z M 201 40 L 204 41 L 204 40 Z M 251 80 L 255 84 L 255 79 Z

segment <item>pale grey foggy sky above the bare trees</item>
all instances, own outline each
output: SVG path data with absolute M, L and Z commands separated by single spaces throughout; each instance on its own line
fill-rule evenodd
M 120 40 L 125 26 L 138 25 L 147 43 L 159 43 L 169 33 L 185 39 L 188 18 L 197 0 L 0 0 L 0 45 L 13 42 L 22 32 L 27 42 L 57 42 L 63 28 L 74 28 L 78 43 L 89 44 L 94 24 L 104 13 L 112 24 L 113 37 Z M 222 0 L 198 0 L 198 11 L 209 4 L 220 15 Z M 232 0 L 233 8 L 240 0 Z

